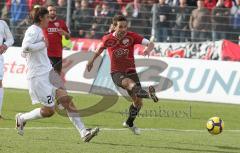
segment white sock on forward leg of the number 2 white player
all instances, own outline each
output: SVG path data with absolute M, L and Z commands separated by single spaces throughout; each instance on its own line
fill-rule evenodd
M 81 121 L 81 118 L 78 113 L 67 111 L 68 117 L 73 125 L 76 127 L 81 137 L 84 137 L 87 133 L 87 130 L 84 126 L 84 123 Z

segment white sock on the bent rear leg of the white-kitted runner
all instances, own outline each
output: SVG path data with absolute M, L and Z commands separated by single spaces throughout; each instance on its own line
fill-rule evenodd
M 23 119 L 24 122 L 28 120 L 36 120 L 39 118 L 43 118 L 43 116 L 41 115 L 41 108 L 36 108 L 31 112 L 24 113 L 20 117 Z

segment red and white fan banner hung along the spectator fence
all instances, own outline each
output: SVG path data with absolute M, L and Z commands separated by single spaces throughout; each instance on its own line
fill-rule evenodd
M 97 39 L 72 38 L 73 51 L 95 51 L 101 43 Z M 221 59 L 223 41 L 216 42 L 199 42 L 199 43 L 155 43 L 155 50 L 150 56 L 162 57 L 180 57 L 180 58 L 197 58 L 197 59 Z M 144 46 L 135 45 L 135 55 L 143 55 Z

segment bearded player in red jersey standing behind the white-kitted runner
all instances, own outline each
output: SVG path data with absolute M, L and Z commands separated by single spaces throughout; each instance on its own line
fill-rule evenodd
M 70 38 L 68 27 L 64 20 L 57 19 L 56 7 L 49 5 L 47 7 L 49 11 L 49 23 L 48 27 L 44 29 L 44 33 L 48 39 L 48 57 L 58 74 L 61 74 L 62 70 L 62 36 L 66 39 Z

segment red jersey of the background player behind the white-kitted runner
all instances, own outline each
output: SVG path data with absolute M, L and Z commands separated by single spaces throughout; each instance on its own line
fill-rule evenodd
M 44 33 L 48 39 L 48 56 L 62 57 L 62 36 L 58 33 L 59 29 L 69 32 L 64 20 L 49 21 L 48 28 L 44 29 Z

